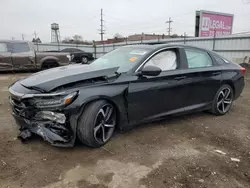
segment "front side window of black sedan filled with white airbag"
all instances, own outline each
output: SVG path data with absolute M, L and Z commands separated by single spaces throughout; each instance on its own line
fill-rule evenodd
M 159 67 L 162 71 L 175 70 L 177 68 L 176 52 L 173 50 L 161 51 L 149 59 L 145 67 L 149 65 Z

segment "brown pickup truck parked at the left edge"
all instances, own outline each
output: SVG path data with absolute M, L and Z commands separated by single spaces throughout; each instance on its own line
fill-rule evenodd
M 0 40 L 0 71 L 48 69 L 68 65 L 70 54 L 36 52 L 31 42 Z

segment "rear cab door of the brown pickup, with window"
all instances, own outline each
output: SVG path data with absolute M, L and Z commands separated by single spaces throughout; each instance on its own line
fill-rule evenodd
M 10 42 L 8 49 L 11 51 L 12 63 L 14 69 L 34 69 L 35 51 L 27 42 Z

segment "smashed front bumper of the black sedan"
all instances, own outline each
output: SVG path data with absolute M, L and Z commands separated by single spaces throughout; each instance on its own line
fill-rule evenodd
M 33 135 L 42 137 L 54 146 L 72 147 L 75 143 L 76 118 L 62 110 L 46 110 L 27 107 L 10 98 L 12 115 L 20 127 L 18 136 L 26 141 Z M 66 115 L 67 114 L 67 115 Z

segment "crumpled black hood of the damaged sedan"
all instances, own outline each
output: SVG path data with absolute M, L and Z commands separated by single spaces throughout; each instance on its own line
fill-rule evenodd
M 115 74 L 118 67 L 100 69 L 90 65 L 68 65 L 41 71 L 19 81 L 25 87 L 49 92 L 59 86 Z

